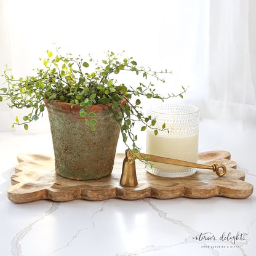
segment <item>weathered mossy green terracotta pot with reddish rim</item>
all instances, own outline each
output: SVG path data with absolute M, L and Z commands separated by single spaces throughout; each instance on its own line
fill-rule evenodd
M 71 108 L 70 103 L 55 100 L 46 106 L 57 174 L 73 180 L 94 180 L 111 174 L 120 126 L 108 107 L 90 106 L 89 112 L 96 113 L 97 119 L 92 131 L 79 115 L 80 106 Z

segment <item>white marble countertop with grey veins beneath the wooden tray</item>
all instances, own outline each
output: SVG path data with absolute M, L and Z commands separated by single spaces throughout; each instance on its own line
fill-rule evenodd
M 230 151 L 238 169 L 246 172 L 246 182 L 254 187 L 255 145 L 254 124 L 201 121 L 199 151 Z M 0 133 L 3 256 L 255 255 L 255 191 L 247 199 L 42 200 L 14 204 L 6 191 L 17 154 L 27 152 L 52 153 L 50 134 Z M 211 233 L 207 237 L 212 239 L 196 240 L 201 233 Z M 230 241 L 224 239 L 228 233 Z

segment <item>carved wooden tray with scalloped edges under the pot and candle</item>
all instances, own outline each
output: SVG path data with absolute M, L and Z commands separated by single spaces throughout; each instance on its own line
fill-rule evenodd
M 244 182 L 245 174 L 236 170 L 236 162 L 230 160 L 226 151 L 209 151 L 198 154 L 201 164 L 225 164 L 227 173 L 218 177 L 212 170 L 198 171 L 188 177 L 163 178 L 149 174 L 145 164 L 136 161 L 138 185 L 119 185 L 124 154 L 116 154 L 111 175 L 99 180 L 77 181 L 62 178 L 55 173 L 54 158 L 45 154 L 19 154 L 15 174 L 11 177 L 12 186 L 7 195 L 12 202 L 32 202 L 40 199 L 71 201 L 87 199 L 99 201 L 108 198 L 128 200 L 147 197 L 169 198 L 247 198 L 253 186 Z

